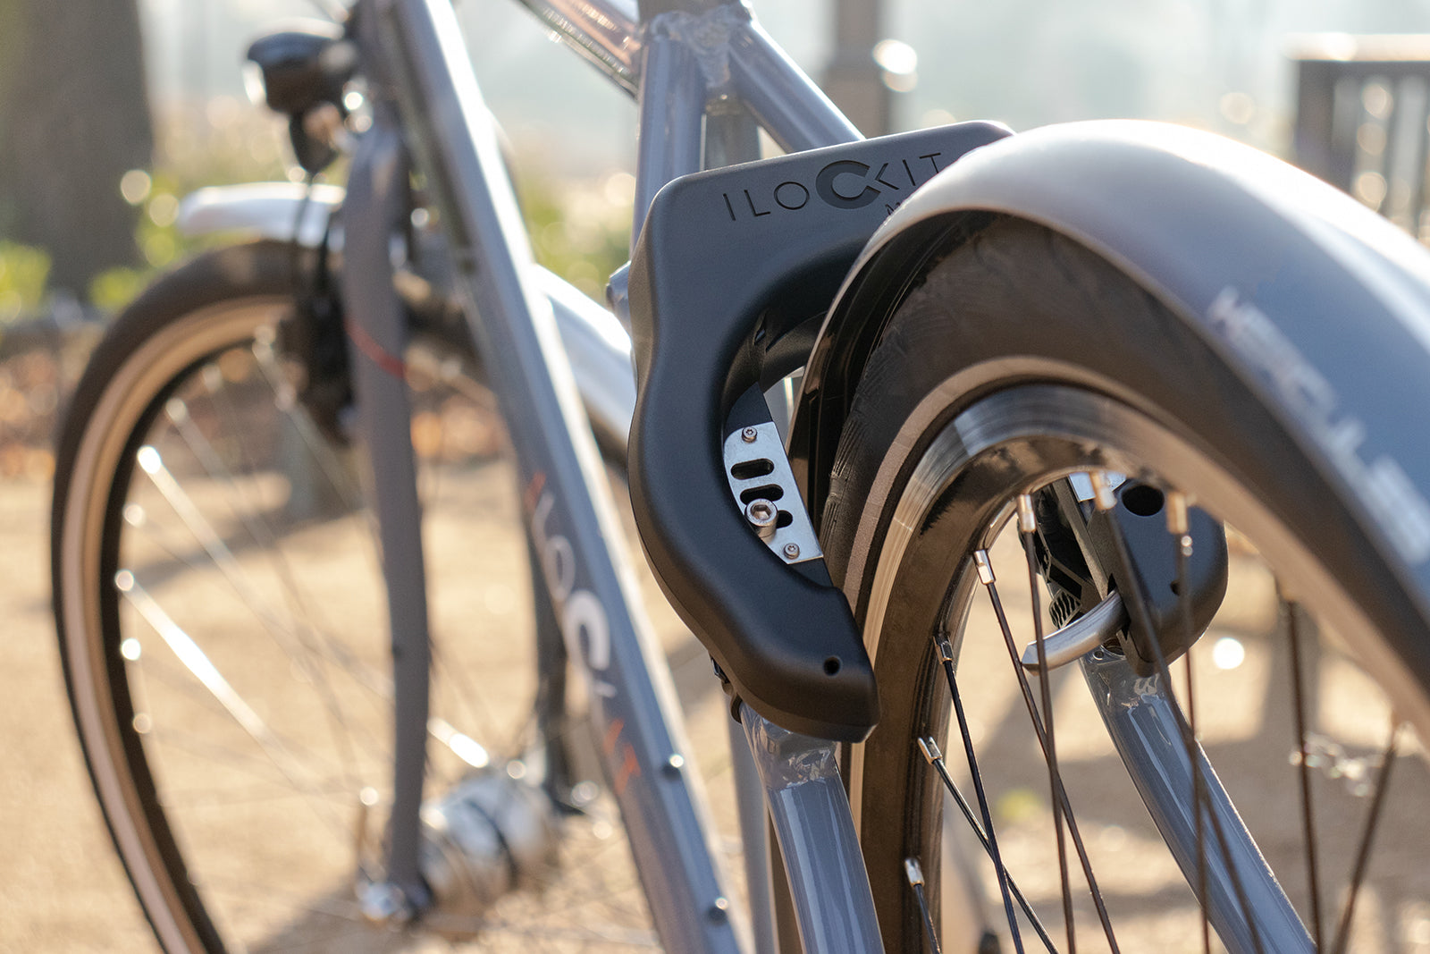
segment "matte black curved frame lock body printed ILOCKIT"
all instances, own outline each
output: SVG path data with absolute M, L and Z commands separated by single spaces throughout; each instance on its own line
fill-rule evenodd
M 639 399 L 631 495 L 641 541 L 681 618 L 765 718 L 859 741 L 874 671 L 844 595 L 785 565 L 745 525 L 724 473 L 735 400 L 808 356 L 845 272 L 914 189 L 1008 134 L 960 123 L 676 179 L 631 267 Z M 798 353 L 797 353 L 798 352 Z

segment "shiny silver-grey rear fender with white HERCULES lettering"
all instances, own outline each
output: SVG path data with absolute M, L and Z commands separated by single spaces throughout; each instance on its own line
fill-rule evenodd
M 1318 179 L 1174 126 L 1011 136 L 960 159 L 885 220 L 805 375 L 791 455 L 814 506 L 862 356 L 921 272 L 991 216 L 1074 239 L 1180 315 L 1296 436 L 1430 619 L 1430 256 Z M 1430 672 L 1423 628 L 1399 649 Z

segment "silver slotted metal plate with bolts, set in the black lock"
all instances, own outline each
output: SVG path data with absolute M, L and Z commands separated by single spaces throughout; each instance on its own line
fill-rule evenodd
M 765 545 L 786 564 L 824 558 L 814 523 L 799 498 L 785 445 L 774 423 L 742 428 L 725 438 L 725 478 L 741 513 Z M 774 532 L 749 516 L 751 503 L 768 501 L 776 509 Z M 765 521 L 759 521 L 765 523 Z

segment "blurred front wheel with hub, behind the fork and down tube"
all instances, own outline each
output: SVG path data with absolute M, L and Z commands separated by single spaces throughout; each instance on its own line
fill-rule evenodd
M 386 594 L 365 449 L 295 359 L 299 265 L 259 243 L 160 280 L 97 349 L 59 452 L 72 707 L 172 951 L 442 944 L 373 930 L 355 892 L 382 880 L 390 805 Z M 599 778 L 581 728 L 536 715 L 563 689 L 536 681 L 515 479 L 473 365 L 408 355 L 433 634 L 423 874 L 440 897 L 423 930 L 649 947 L 613 802 L 581 781 Z M 578 755 L 559 792 L 548 744 Z

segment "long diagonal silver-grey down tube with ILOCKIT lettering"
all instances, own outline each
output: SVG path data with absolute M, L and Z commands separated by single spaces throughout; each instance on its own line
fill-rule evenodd
M 744 931 L 721 887 L 711 848 L 714 828 L 698 785 L 688 782 L 684 769 L 688 745 L 674 685 L 619 548 L 621 529 L 605 472 L 551 303 L 535 282 L 529 240 L 450 0 L 379 0 L 372 13 L 378 19 L 366 24 L 363 43 L 390 72 L 408 143 L 452 237 L 459 292 L 506 409 L 529 535 L 568 649 L 588 675 L 591 715 L 606 739 L 605 769 L 626 820 L 656 930 L 669 950 L 739 950 Z M 858 137 L 758 27 L 748 24 L 738 31 L 731 47 L 736 43 L 738 56 L 729 57 L 736 84 L 742 77 L 746 84 L 774 77 L 774 86 L 788 86 L 765 90 L 766 100 L 786 103 L 779 117 L 792 120 L 774 130 L 776 142 L 805 147 Z M 672 60 L 678 67 L 655 70 L 661 79 L 642 89 L 644 100 L 665 97 L 672 86 L 689 89 L 698 83 L 708 89 L 695 57 Z M 644 64 L 649 66 L 649 59 Z M 679 110 L 685 126 L 679 130 L 642 126 L 638 192 L 662 185 L 654 179 L 694 172 L 684 167 L 689 150 L 671 143 L 688 143 L 691 124 L 698 136 L 702 113 Z M 758 110 L 755 114 L 769 124 L 769 117 Z M 382 117 L 376 112 L 375 122 Z M 661 147 L 664 137 L 668 144 Z M 355 169 L 360 167 L 355 163 Z M 359 189 L 359 195 L 370 192 Z M 358 270 L 365 265 L 349 262 Z M 350 320 L 380 326 L 380 316 L 372 310 L 372 305 L 359 305 L 350 310 Z M 410 519 L 418 521 L 415 508 Z M 400 645 L 396 631 L 393 641 Z M 425 695 L 425 688 L 418 691 Z M 399 722 L 406 705 L 402 692 L 399 685 Z M 422 742 L 412 738 L 409 744 Z M 416 844 L 399 844 L 402 821 L 393 820 L 393 871 L 415 865 Z

